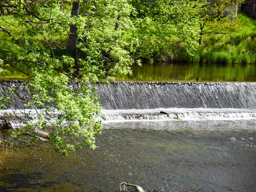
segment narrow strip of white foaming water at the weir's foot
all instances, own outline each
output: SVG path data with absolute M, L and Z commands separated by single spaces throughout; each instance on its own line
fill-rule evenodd
M 163 111 L 163 114 L 160 113 Z M 256 119 L 256 110 L 249 109 L 121 109 L 102 110 L 102 120 L 129 121 L 129 120 L 248 120 Z

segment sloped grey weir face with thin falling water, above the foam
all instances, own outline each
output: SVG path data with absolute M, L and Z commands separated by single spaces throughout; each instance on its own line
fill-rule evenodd
M 97 84 L 103 109 L 256 108 L 256 83 Z

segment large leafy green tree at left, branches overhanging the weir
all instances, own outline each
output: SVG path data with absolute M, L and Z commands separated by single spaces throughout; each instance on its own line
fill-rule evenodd
M 70 11 L 77 2 L 81 12 L 74 16 Z M 24 108 L 38 111 L 36 120 L 30 120 L 29 111 L 22 111 L 26 125 L 9 134 L 17 141 L 33 143 L 35 130 L 47 131 L 56 152 L 63 156 L 84 145 L 95 148 L 94 135 L 100 133 L 102 124 L 97 120 L 100 106 L 94 85 L 100 79 L 113 81 L 117 72 L 131 72 L 129 65 L 134 60 L 124 48 L 129 47 L 127 33 L 134 28 L 129 19 L 135 14 L 132 6 L 124 0 L 7 0 L 0 8 L 2 29 L 10 32 L 1 31 L 3 36 L 10 35 L 2 48 L 2 67 L 24 65 L 29 73 L 19 70 L 30 79 L 19 86 L 2 82 L 9 94 L 2 96 L 19 95 Z M 115 22 L 118 29 L 114 29 Z M 77 28 L 75 54 L 65 49 L 70 26 Z M 20 95 L 19 89 L 31 98 Z

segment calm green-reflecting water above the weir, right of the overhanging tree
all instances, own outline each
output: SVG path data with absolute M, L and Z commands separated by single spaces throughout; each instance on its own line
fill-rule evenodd
M 256 81 L 255 65 L 148 63 L 132 66 L 133 76 L 116 76 L 133 81 Z

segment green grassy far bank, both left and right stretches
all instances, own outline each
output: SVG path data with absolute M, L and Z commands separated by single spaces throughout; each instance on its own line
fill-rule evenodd
M 7 18 L 8 19 L 8 18 Z M 236 32 L 225 33 L 218 31 L 218 33 L 211 33 L 204 35 L 202 38 L 202 46 L 198 51 L 193 52 L 193 55 L 180 49 L 177 38 L 172 38 L 171 41 L 166 41 L 166 45 L 157 45 L 154 42 L 151 47 L 148 47 L 144 57 L 141 55 L 134 56 L 143 60 L 157 60 L 157 61 L 173 61 L 181 63 L 223 63 L 223 64 L 256 64 L 256 20 L 246 17 L 241 14 L 242 25 L 241 29 Z M 42 37 L 38 36 L 38 40 L 31 43 L 34 48 L 31 49 L 27 45 L 30 40 L 28 37 L 22 37 L 20 29 L 17 28 L 17 23 L 14 20 L 9 20 L 10 26 L 8 28 L 12 31 L 13 36 L 8 36 L 7 33 L 0 30 L 2 40 L 0 42 L 0 58 L 19 60 L 26 54 L 35 51 L 51 52 L 49 47 L 42 43 Z M 55 37 L 60 42 L 60 47 L 65 47 L 65 38 L 63 36 Z M 19 47 L 19 49 L 17 49 Z M 152 47 L 157 47 L 154 49 Z M 163 49 L 161 49 L 163 47 Z M 166 50 L 168 47 L 168 50 Z M 36 50 L 36 49 L 37 50 Z M 35 49 L 35 50 L 34 50 Z M 61 56 L 65 49 L 54 50 L 55 56 Z M 142 51 L 142 52 L 144 52 Z M 147 51 L 150 56 L 147 56 Z M 66 52 L 67 54 L 67 52 Z

